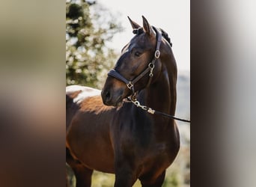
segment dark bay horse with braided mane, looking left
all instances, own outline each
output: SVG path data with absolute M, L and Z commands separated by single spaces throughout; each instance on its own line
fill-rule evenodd
M 137 179 L 143 187 L 162 186 L 177 156 L 175 121 L 138 107 L 172 115 L 176 108 L 177 65 L 168 34 L 142 18 L 143 27 L 129 19 L 135 36 L 103 91 L 67 87 L 66 157 L 76 186 L 91 186 L 94 170 L 115 174 L 115 187 L 131 187 Z

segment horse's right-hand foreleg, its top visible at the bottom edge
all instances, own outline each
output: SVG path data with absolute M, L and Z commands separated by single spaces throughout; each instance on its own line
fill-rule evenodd
M 153 177 L 140 177 L 142 187 L 161 187 L 165 180 L 165 171 L 159 175 L 156 179 Z

